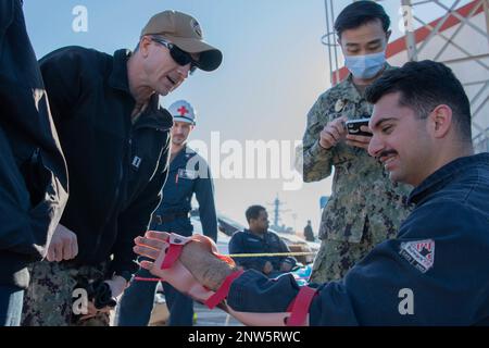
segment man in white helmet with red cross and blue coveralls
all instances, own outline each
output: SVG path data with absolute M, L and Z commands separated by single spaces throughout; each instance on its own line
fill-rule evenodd
M 196 195 L 199 203 L 199 217 L 205 236 L 217 240 L 217 215 L 214 204 L 214 187 L 208 163 L 188 145 L 187 139 L 196 126 L 196 111 L 192 105 L 178 100 L 168 108 L 173 116 L 172 147 L 168 179 L 163 187 L 164 200 L 153 214 L 151 228 L 191 236 L 191 200 Z M 138 277 L 151 278 L 141 269 Z M 154 303 L 158 282 L 135 279 L 124 291 L 118 308 L 120 326 L 146 326 L 149 323 Z M 193 301 L 178 293 L 168 283 L 163 283 L 166 304 L 170 311 L 170 326 L 191 326 L 193 323 Z

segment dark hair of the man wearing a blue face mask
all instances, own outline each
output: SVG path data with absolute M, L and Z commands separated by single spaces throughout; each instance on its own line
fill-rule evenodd
M 364 24 L 379 20 L 384 32 L 390 27 L 390 18 L 381 5 L 374 1 L 356 1 L 341 11 L 335 21 L 335 30 L 339 37 L 344 30 L 358 28 Z

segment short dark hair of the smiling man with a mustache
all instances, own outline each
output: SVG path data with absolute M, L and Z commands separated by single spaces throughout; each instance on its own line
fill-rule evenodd
M 412 109 L 419 119 L 447 104 L 462 139 L 472 141 L 471 103 L 464 87 L 452 70 L 434 61 L 409 62 L 400 69 L 385 72 L 365 91 L 365 99 L 375 104 L 381 97 L 401 92 L 399 104 Z

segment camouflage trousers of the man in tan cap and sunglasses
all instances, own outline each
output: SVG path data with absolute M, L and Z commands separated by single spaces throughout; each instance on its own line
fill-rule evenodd
M 79 321 L 73 312 L 78 283 L 104 278 L 104 265 L 71 268 L 65 262 L 36 262 L 24 295 L 23 326 L 109 326 L 109 313 Z

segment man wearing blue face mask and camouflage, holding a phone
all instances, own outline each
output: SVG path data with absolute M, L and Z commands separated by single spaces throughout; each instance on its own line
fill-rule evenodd
M 341 278 L 375 245 L 396 236 L 409 212 L 409 187 L 391 183 L 368 156 L 371 137 L 349 135 L 344 126 L 348 120 L 371 116 L 365 89 L 393 69 L 386 62 L 389 26 L 384 8 L 373 1 L 356 1 L 339 14 L 335 30 L 350 75 L 323 94 L 308 114 L 298 153 L 304 182 L 322 181 L 335 167 L 311 276 L 315 283 Z

